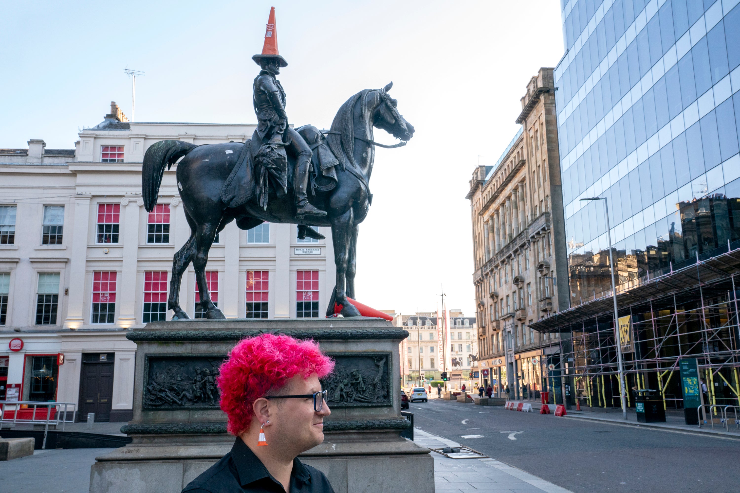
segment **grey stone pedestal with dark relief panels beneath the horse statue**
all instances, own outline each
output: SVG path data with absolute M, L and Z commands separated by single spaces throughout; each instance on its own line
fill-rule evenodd
M 266 332 L 314 339 L 337 361 L 323 381 L 332 408 L 325 441 L 301 455 L 303 462 L 324 472 L 337 493 L 434 492 L 428 449 L 400 437 L 410 425 L 401 416 L 398 352 L 408 333 L 365 317 L 187 320 L 133 330 L 127 337 L 137 344 L 134 416 L 121 428 L 133 441 L 96 458 L 90 492 L 178 493 L 229 452 L 235 438 L 226 433 L 210 382 L 240 339 Z M 364 385 L 354 387 L 364 390 L 341 391 L 357 375 Z M 206 390 L 200 395 L 196 381 Z

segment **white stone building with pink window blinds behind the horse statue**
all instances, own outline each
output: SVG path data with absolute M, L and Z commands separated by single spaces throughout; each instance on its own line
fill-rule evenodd
M 75 149 L 0 149 L 0 400 L 72 402 L 97 421 L 129 420 L 135 344 L 125 334 L 172 316 L 172 255 L 189 237 L 176 165 L 155 211 L 144 210 L 144 152 L 165 139 L 243 142 L 254 129 L 132 123 L 112 103 Z M 227 225 L 206 268 L 214 302 L 227 318 L 324 316 L 335 271 L 331 231 L 320 232 L 326 240 L 300 241 L 295 225 Z M 180 299 L 198 318 L 192 265 Z

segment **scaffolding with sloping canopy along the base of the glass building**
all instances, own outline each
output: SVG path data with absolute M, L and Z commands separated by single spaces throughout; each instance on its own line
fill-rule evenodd
M 624 356 L 628 407 L 634 390 L 653 389 L 666 409 L 682 408 L 679 360 L 696 358 L 707 405 L 740 405 L 740 244 L 618 291 L 633 347 Z M 620 407 L 611 293 L 533 324 L 560 332 L 562 378 L 590 407 Z M 622 342 L 624 347 L 624 341 Z M 705 386 L 705 387 L 704 387 Z M 713 408 L 716 414 L 716 407 Z

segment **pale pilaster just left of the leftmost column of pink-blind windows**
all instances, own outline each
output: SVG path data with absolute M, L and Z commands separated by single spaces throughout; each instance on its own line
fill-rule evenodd
M 82 313 L 85 300 L 85 265 L 87 264 L 87 225 L 90 221 L 90 195 L 75 197 L 73 211 L 72 251 L 70 252 L 70 296 L 67 301 L 65 329 L 78 329 L 85 324 Z

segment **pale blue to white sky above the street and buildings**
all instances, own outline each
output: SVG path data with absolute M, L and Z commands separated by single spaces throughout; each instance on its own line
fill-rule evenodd
M 475 167 L 519 129 L 519 99 L 564 53 L 559 1 L 179 1 L 4 3 L 0 148 L 72 149 L 110 101 L 137 121 L 256 123 L 251 60 L 277 13 L 280 82 L 295 126 L 329 128 L 362 89 L 390 94 L 416 133 L 377 149 L 360 225 L 356 296 L 410 314 L 474 315 Z M 379 142 L 394 143 L 382 130 Z

